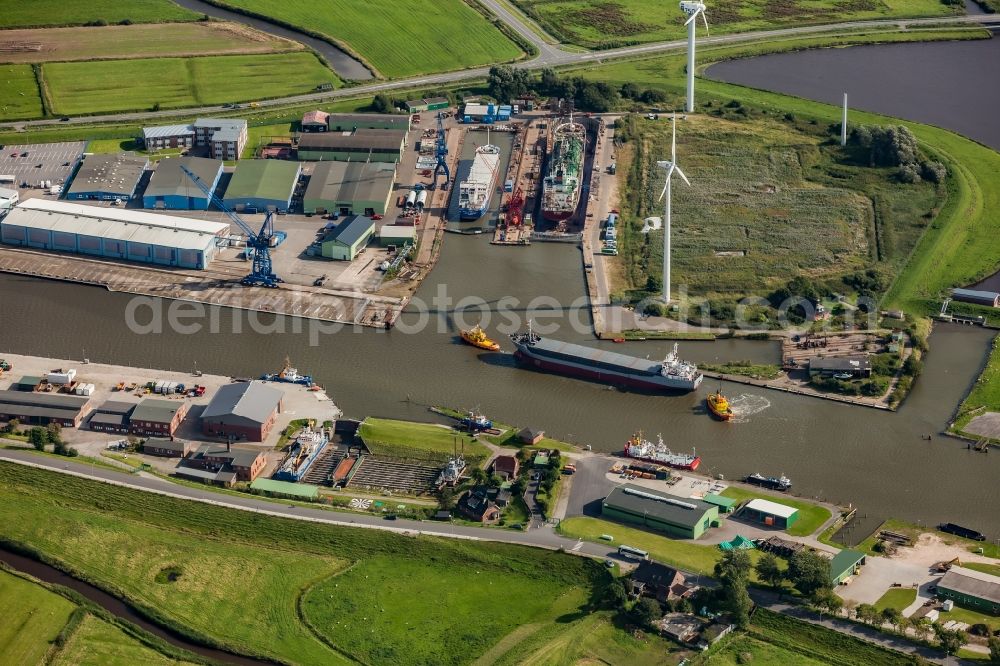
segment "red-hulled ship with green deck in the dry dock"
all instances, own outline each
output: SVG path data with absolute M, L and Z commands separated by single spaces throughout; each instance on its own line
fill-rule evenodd
M 549 166 L 542 182 L 542 217 L 549 222 L 568 219 L 580 203 L 586 144 L 587 130 L 573 122 L 572 116 L 552 131 Z

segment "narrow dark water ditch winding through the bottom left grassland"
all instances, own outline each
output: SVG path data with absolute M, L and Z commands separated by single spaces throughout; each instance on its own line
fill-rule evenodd
M 95 587 L 90 583 L 85 583 L 81 580 L 73 578 L 62 571 L 59 571 L 55 567 L 39 562 L 38 560 L 33 560 L 30 557 L 25 557 L 24 555 L 0 548 L 0 562 L 3 562 L 12 569 L 34 576 L 38 580 L 46 583 L 68 587 L 69 589 L 83 595 L 90 601 L 93 601 L 104 610 L 122 619 L 128 620 L 132 624 L 142 627 L 149 633 L 154 636 L 159 636 L 171 645 L 175 645 L 203 657 L 214 659 L 219 663 L 238 664 L 240 666 L 260 666 L 262 664 L 277 663 L 235 655 L 230 652 L 224 652 L 222 650 L 216 650 L 214 648 L 205 647 L 204 645 L 192 643 L 173 631 L 149 622 L 134 608 L 120 599 L 111 596 L 104 590 Z

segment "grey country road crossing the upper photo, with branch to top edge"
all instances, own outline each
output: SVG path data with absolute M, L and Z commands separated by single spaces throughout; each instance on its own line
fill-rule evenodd
M 524 36 L 534 44 L 539 54 L 531 60 L 515 63 L 515 67 L 524 69 L 541 69 L 544 67 L 562 67 L 568 65 L 579 65 L 586 63 L 605 63 L 611 60 L 620 60 L 643 55 L 653 55 L 657 53 L 668 53 L 680 51 L 686 48 L 687 41 L 677 39 L 668 42 L 654 42 L 639 46 L 628 46 L 607 51 L 573 52 L 565 51 L 558 46 L 547 43 L 539 35 L 526 26 L 520 18 L 506 9 L 496 0 L 484 0 L 484 4 L 496 13 L 496 15 L 507 23 L 511 29 Z M 929 18 L 929 19 L 884 19 L 876 21 L 854 21 L 843 23 L 830 23 L 825 25 L 810 25 L 796 28 L 781 28 L 777 30 L 759 30 L 754 32 L 735 33 L 730 35 L 719 35 L 716 37 L 704 37 L 699 39 L 699 46 L 719 46 L 726 44 L 738 44 L 752 41 L 771 41 L 799 36 L 814 35 L 820 33 L 846 34 L 859 29 L 898 27 L 901 29 L 917 28 L 929 25 L 1000 25 L 1000 15 L 997 14 L 974 14 L 966 16 Z M 425 76 L 412 77 L 407 79 L 397 79 L 394 81 L 381 81 L 377 83 L 366 83 L 348 88 L 340 88 L 332 91 L 307 93 L 303 95 L 291 95 L 276 99 L 261 100 L 262 109 L 268 107 L 282 107 L 293 104 L 305 104 L 308 102 L 322 102 L 335 99 L 345 99 L 352 97 L 364 97 L 367 95 L 385 92 L 390 90 L 412 90 L 427 86 L 455 83 L 467 79 L 483 78 L 489 73 L 489 67 L 476 67 L 455 72 L 443 72 L 441 74 L 429 74 Z M 22 122 L 7 122 L 0 124 L 0 127 L 15 128 L 18 130 L 28 127 L 45 126 L 67 126 L 74 124 L 91 123 L 123 123 L 141 120 L 155 120 L 171 118 L 177 116 L 196 116 L 210 113 L 228 111 L 223 106 L 203 106 L 197 108 L 169 109 L 163 111 L 141 111 L 133 113 L 117 113 L 94 116 L 77 116 L 69 120 L 59 119 L 30 120 Z

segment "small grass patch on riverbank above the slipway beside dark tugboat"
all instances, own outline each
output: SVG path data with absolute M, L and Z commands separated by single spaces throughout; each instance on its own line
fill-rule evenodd
M 415 423 L 368 417 L 359 431 L 365 445 L 375 455 L 412 460 L 447 461 L 455 448 L 464 447 L 465 459 L 479 464 L 489 457 L 489 449 L 465 433 L 434 423 Z

